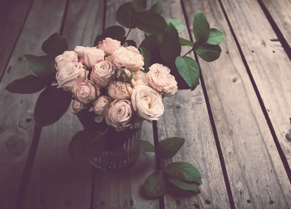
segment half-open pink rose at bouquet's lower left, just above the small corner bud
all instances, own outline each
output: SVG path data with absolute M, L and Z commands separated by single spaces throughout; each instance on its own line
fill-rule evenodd
M 94 86 L 89 80 L 84 80 L 72 90 L 75 97 L 84 104 L 93 103 L 100 95 L 100 87 Z

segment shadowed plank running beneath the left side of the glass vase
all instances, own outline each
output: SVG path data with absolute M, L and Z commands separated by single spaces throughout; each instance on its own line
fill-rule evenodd
M 63 33 L 69 48 L 93 45 L 102 20 L 103 1 L 70 1 Z M 42 129 L 24 209 L 90 208 L 93 166 L 68 155 L 72 136 L 82 130 L 72 112 L 70 107 L 58 122 Z

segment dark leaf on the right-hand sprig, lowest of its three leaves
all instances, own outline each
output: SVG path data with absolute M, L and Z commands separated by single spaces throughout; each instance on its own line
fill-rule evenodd
M 217 60 L 221 54 L 219 45 L 210 45 L 206 43 L 197 45 L 194 50 L 199 57 L 208 62 Z

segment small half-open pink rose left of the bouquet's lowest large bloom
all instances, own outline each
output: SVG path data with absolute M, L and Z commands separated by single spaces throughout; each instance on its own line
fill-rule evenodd
M 97 114 L 95 117 L 96 122 L 101 122 L 106 114 L 108 113 L 109 105 L 112 103 L 112 99 L 108 96 L 100 96 L 91 107 L 91 111 L 94 111 Z

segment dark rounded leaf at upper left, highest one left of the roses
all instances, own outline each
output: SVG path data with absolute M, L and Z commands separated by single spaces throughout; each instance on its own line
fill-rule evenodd
M 59 33 L 54 33 L 43 43 L 41 49 L 54 60 L 68 50 L 68 43 Z

